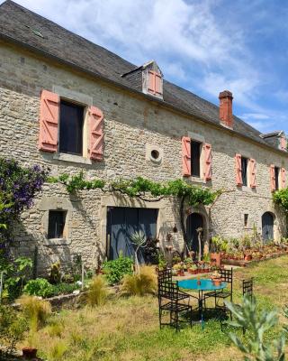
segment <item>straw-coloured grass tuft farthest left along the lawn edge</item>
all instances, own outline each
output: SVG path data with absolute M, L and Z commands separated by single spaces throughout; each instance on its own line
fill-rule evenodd
M 23 295 L 19 300 L 23 309 L 23 315 L 30 322 L 31 331 L 37 331 L 45 325 L 51 314 L 49 301 L 39 300 L 35 296 Z

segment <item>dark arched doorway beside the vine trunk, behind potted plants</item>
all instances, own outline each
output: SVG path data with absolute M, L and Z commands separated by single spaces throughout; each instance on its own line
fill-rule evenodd
M 199 253 L 199 242 L 197 228 L 202 227 L 202 236 L 204 230 L 204 221 L 202 215 L 199 213 L 192 213 L 187 217 L 186 232 L 187 232 L 187 246 L 189 250 L 195 253 Z M 203 242 L 202 242 L 202 254 L 203 254 Z

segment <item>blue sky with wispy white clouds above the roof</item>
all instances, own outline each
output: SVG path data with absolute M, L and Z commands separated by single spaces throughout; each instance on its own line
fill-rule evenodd
M 157 60 L 166 79 L 215 104 L 229 89 L 235 115 L 288 133 L 288 1 L 16 2 L 136 65 Z

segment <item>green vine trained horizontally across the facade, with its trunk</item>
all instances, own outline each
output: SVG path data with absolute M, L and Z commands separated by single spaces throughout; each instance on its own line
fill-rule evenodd
M 64 173 L 58 177 L 49 178 L 50 182 L 60 182 L 67 188 L 67 192 L 72 194 L 79 190 L 100 189 L 103 192 L 119 192 L 131 198 L 138 198 L 148 202 L 155 202 L 167 197 L 174 197 L 179 204 L 180 223 L 184 235 L 184 249 L 187 244 L 187 234 L 184 225 L 185 205 L 197 207 L 199 205 L 208 206 L 221 194 L 221 190 L 213 191 L 189 184 L 185 180 L 169 180 L 158 182 L 146 178 L 137 177 L 135 180 L 85 180 L 81 171 L 76 175 Z

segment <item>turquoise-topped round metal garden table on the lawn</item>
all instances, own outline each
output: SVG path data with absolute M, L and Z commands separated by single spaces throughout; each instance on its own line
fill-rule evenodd
M 200 282 L 200 284 L 198 284 Z M 199 308 L 199 315 L 201 319 L 202 329 L 204 328 L 204 320 L 203 320 L 203 292 L 205 291 L 217 291 L 223 290 L 227 287 L 227 282 L 221 282 L 219 286 L 215 286 L 213 282 L 209 279 L 205 280 L 183 280 L 177 282 L 180 288 L 184 288 L 185 290 L 193 290 L 198 291 L 198 308 Z

